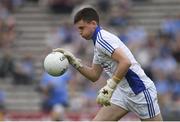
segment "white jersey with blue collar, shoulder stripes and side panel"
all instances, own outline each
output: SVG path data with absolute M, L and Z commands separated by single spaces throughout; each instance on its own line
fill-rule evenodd
M 116 48 L 121 48 L 131 61 L 131 66 L 125 77 L 118 84 L 117 89 L 121 89 L 127 93 L 138 94 L 141 91 L 154 86 L 154 83 L 146 76 L 131 51 L 117 36 L 98 26 L 92 39 L 94 41 L 93 63 L 101 65 L 109 77 L 113 76 L 118 65 L 111 57 Z

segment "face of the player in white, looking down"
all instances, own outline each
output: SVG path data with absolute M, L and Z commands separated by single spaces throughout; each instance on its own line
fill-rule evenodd
M 80 20 L 75 24 L 79 31 L 79 34 L 86 40 L 90 40 L 92 38 L 96 25 L 97 24 L 95 21 L 86 22 L 83 20 Z

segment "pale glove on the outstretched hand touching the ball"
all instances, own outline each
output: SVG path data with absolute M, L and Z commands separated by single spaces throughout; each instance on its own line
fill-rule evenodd
M 64 56 L 66 56 L 66 58 L 68 59 L 69 63 L 76 69 L 82 67 L 83 65 L 80 62 L 80 59 L 76 58 L 71 52 L 66 51 L 62 48 L 56 48 L 53 49 L 53 52 L 61 52 L 64 54 Z

